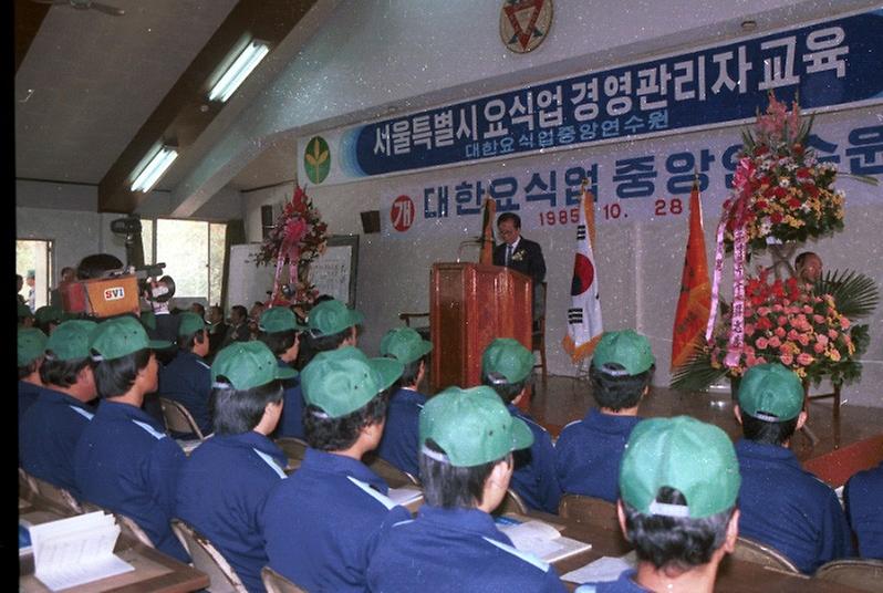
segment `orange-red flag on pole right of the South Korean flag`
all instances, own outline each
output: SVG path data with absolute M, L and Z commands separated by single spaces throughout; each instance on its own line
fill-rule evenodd
M 711 308 L 711 283 L 708 280 L 708 261 L 705 254 L 699 185 L 693 181 L 689 195 L 689 237 L 684 273 L 681 277 L 681 296 L 677 300 L 675 325 L 672 332 L 672 368 L 684 364 L 693 354 L 696 341 L 705 332 Z

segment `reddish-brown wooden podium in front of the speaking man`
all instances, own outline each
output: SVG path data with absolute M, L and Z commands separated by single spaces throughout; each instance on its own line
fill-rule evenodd
M 479 385 L 481 354 L 495 337 L 515 337 L 530 350 L 532 308 L 531 280 L 520 272 L 480 263 L 434 263 L 434 389 Z

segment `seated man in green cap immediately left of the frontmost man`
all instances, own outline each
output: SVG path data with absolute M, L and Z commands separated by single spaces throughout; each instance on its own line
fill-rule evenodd
M 506 497 L 512 451 L 533 441 L 485 386 L 449 387 L 420 413 L 417 519 L 384 526 L 371 556 L 371 591 L 564 591 L 558 573 L 519 552 L 489 514 Z

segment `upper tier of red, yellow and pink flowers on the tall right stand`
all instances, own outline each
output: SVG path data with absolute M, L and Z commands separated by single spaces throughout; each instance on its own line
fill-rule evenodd
M 733 249 L 739 223 L 739 199 L 747 199 L 741 218 L 748 247 L 762 249 L 768 242 L 804 241 L 843 229 L 844 194 L 832 185 L 837 168 L 819 163 L 807 146 L 812 117 L 802 121 L 794 101 L 788 112 L 770 93 L 766 114 L 758 114 L 756 133 L 742 132 L 744 176 L 734 195 L 724 202 L 728 212 L 725 232 L 727 250 Z

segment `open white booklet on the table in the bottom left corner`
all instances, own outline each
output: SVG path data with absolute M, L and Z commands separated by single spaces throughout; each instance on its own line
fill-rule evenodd
M 53 591 L 135 570 L 113 553 L 120 527 L 103 511 L 33 526 L 30 533 L 34 576 Z

